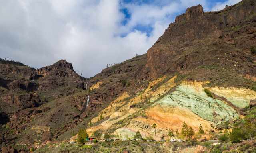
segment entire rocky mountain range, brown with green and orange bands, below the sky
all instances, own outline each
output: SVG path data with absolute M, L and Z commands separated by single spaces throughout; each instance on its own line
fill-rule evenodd
M 47 148 L 74 141 L 79 129 L 151 139 L 152 124 L 160 140 L 184 122 L 214 139 L 255 106 L 255 44 L 256 3 L 243 0 L 217 12 L 188 8 L 146 54 L 91 78 L 65 60 L 40 69 L 1 62 L 0 143 Z

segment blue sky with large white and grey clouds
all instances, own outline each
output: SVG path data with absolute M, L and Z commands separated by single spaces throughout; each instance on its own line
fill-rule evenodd
M 0 57 L 40 68 L 60 59 L 92 77 L 142 55 L 177 15 L 241 0 L 0 0 Z

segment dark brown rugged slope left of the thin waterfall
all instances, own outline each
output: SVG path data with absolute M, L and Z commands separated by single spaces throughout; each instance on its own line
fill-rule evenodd
M 15 62 L 2 63 L 4 64 L 0 64 L 0 112 L 1 120 L 8 123 L 1 123 L 4 124 L 0 131 L 1 143 L 33 144 L 42 136 L 42 141 L 49 140 L 54 135 L 57 137 L 56 134 L 64 128 L 54 127 L 64 126 L 77 114 L 75 108 L 67 107 L 67 104 L 62 106 L 60 102 L 64 99 L 65 103 L 68 103 L 66 96 L 83 90 L 85 78 L 80 77 L 73 70 L 72 64 L 64 60 L 38 70 Z M 58 105 L 58 110 L 55 110 Z M 52 117 L 54 113 L 58 115 L 64 112 L 72 112 L 74 116 L 70 114 Z M 52 114 L 49 116 L 49 113 Z M 41 122 L 42 120 L 47 122 Z M 56 120 L 60 120 L 59 124 L 56 124 Z M 45 128 L 41 130 L 42 135 L 36 136 L 34 132 L 28 131 L 33 127 Z

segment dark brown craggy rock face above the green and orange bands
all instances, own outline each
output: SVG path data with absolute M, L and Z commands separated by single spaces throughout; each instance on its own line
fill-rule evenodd
M 148 50 L 146 66 L 150 68 L 150 77 L 182 73 L 216 63 L 220 63 L 221 68 L 230 66 L 234 71 L 255 75 L 254 66 L 248 61 L 252 57 L 249 48 L 256 39 L 255 12 L 253 0 L 243 0 L 219 12 L 204 12 L 201 5 L 188 8 Z M 242 35 L 250 40 L 241 42 Z M 240 59 L 232 58 L 241 55 Z M 239 63 L 238 70 L 235 70 L 235 62 Z

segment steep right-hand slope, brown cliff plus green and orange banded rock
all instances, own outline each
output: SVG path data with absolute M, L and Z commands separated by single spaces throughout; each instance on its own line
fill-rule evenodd
M 87 131 L 125 139 L 139 130 L 153 137 L 156 123 L 160 139 L 168 137 L 169 128 L 180 132 L 186 122 L 196 132 L 201 124 L 209 138 L 228 128 L 226 123 L 245 115 L 243 108 L 256 99 L 255 27 L 253 0 L 218 12 L 188 8 L 148 50 L 148 86 L 135 95 L 123 92 Z

